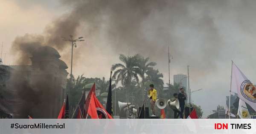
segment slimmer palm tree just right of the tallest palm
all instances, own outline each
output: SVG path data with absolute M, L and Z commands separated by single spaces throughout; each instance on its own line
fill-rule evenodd
M 145 74 L 147 74 L 147 72 L 151 69 L 153 69 L 154 66 L 157 65 L 157 63 L 155 62 L 149 62 L 148 63 L 148 60 L 149 60 L 149 57 L 141 57 L 139 59 L 139 67 L 140 67 L 140 70 L 141 70 L 141 73 L 140 73 L 140 77 L 141 77 L 141 87 L 144 88 L 144 83 L 145 83 Z

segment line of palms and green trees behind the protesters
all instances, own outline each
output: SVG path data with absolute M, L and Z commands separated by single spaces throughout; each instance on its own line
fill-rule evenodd
M 133 105 L 142 106 L 143 100 L 148 99 L 147 91 L 150 84 L 154 84 L 154 88 L 157 89 L 158 98 L 170 99 L 172 98 L 172 94 L 179 92 L 180 87 L 176 83 L 171 85 L 168 83 L 168 90 L 163 90 L 163 74 L 155 68 L 157 63 L 150 61 L 149 57 L 143 57 L 140 54 L 133 56 L 120 54 L 119 60 L 120 63 L 113 64 L 111 67 L 111 71 L 113 71 L 113 111 L 116 111 L 114 114 L 119 114 L 118 101 L 130 102 Z M 73 108 L 76 106 L 84 86 L 93 82 L 96 82 L 96 88 L 100 90 L 99 100 L 104 103 L 102 100 L 103 96 L 101 95 L 107 92 L 109 87 L 109 80 L 106 80 L 105 77 L 86 78 L 81 75 L 77 78 L 73 77 L 71 80 L 67 80 L 67 93 L 70 97 L 70 105 Z M 145 101 L 145 105 L 149 106 L 147 100 Z M 199 107 L 198 109 L 198 116 L 201 117 L 201 108 Z M 172 110 L 167 108 L 166 114 L 167 117 L 172 117 Z

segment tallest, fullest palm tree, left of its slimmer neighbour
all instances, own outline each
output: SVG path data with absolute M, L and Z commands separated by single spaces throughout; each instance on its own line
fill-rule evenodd
M 112 65 L 111 70 L 114 71 L 113 79 L 116 79 L 116 83 L 121 81 L 122 86 L 126 90 L 126 100 L 128 102 L 128 90 L 131 86 L 131 81 L 136 80 L 139 83 L 139 75 L 141 73 L 140 68 L 138 67 L 139 54 L 136 54 L 132 57 L 126 57 L 123 54 L 120 54 L 119 60 L 122 63 L 116 63 Z

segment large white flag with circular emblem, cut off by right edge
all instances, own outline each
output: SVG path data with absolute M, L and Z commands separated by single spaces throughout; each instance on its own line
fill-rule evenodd
M 232 61 L 231 91 L 256 111 L 256 88 Z

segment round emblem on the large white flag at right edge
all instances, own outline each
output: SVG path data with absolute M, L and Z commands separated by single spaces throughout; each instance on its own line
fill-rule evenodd
M 250 80 L 244 80 L 240 87 L 243 97 L 253 103 L 256 103 L 256 88 Z

